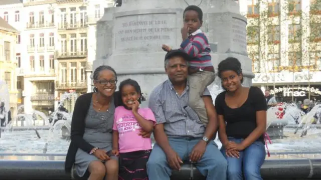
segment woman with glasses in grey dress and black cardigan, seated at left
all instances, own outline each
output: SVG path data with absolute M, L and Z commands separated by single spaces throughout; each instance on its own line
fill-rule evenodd
M 80 177 L 88 171 L 90 180 L 118 180 L 118 157 L 111 154 L 117 74 L 110 66 L 99 66 L 93 79 L 94 92 L 81 95 L 75 103 L 65 170 L 70 172 L 74 164 Z

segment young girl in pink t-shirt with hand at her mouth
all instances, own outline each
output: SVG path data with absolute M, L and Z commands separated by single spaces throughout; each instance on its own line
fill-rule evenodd
M 119 180 L 147 180 L 146 163 L 151 151 L 151 139 L 139 135 L 151 132 L 155 117 L 149 108 L 139 108 L 144 97 L 135 80 L 126 79 L 119 85 L 119 103 L 113 126 L 113 155 L 119 155 Z

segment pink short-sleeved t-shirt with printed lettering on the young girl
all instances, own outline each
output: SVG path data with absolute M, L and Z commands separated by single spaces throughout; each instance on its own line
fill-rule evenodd
M 155 116 L 149 108 L 139 108 L 138 113 L 147 120 L 156 122 Z M 133 152 L 151 149 L 151 139 L 138 135 L 141 129 L 131 110 L 119 106 L 115 109 L 113 130 L 119 133 L 119 152 Z

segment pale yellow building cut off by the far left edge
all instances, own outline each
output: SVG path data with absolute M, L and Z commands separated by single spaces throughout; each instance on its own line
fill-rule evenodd
M 9 103 L 12 116 L 18 108 L 16 42 L 19 32 L 0 17 L 0 79 L 9 89 Z

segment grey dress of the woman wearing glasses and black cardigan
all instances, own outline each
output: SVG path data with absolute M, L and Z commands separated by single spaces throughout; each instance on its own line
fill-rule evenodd
M 114 102 L 110 103 L 107 112 L 96 112 L 92 101 L 85 119 L 84 140 L 95 147 L 112 150 L 112 126 L 114 123 Z M 112 157 L 115 158 L 115 157 Z M 76 171 L 79 176 L 83 176 L 88 169 L 88 165 L 93 160 L 99 160 L 95 155 L 89 154 L 78 148 L 75 157 Z

